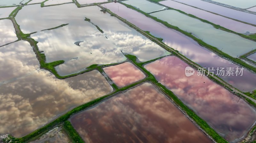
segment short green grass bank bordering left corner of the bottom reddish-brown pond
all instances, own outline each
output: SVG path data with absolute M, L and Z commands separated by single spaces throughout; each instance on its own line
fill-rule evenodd
M 72 143 L 84 143 L 84 140 L 80 137 L 80 135 L 76 132 L 69 121 L 65 121 L 63 124 L 64 131 L 68 134 Z

